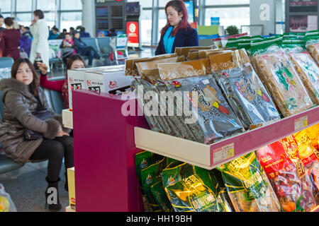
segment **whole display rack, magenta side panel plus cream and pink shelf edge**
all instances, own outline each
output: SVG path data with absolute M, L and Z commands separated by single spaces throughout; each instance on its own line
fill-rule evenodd
M 137 106 L 136 99 L 131 101 Z M 75 90 L 72 102 L 73 111 L 63 111 L 63 121 L 74 129 L 77 212 L 144 211 L 135 171 L 135 155 L 142 150 L 213 169 L 319 123 L 319 107 L 314 107 L 213 145 L 204 145 L 151 131 L 145 117 L 138 114 L 123 116 L 125 100 L 119 96 Z

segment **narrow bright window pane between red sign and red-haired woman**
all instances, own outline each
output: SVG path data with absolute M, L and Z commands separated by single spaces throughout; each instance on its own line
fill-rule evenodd
M 151 44 L 152 42 L 152 11 L 144 10 L 140 15 L 140 41 L 142 44 Z

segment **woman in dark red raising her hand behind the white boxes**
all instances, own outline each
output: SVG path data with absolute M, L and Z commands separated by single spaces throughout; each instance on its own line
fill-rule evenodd
M 67 74 L 64 81 L 50 81 L 47 80 L 47 65 L 43 63 L 38 63 L 39 69 L 41 71 L 40 76 L 40 85 L 43 88 L 47 88 L 49 90 L 55 90 L 57 92 L 62 92 L 62 98 L 65 102 L 65 109 L 69 109 L 69 89 L 67 86 Z M 85 63 L 84 59 L 81 56 L 75 54 L 69 57 L 67 61 L 67 70 L 74 69 L 84 69 Z

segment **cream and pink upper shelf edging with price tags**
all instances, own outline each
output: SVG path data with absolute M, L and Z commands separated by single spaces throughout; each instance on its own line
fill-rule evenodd
M 172 157 L 205 169 L 213 169 L 318 123 L 319 107 L 313 107 L 301 114 L 240 133 L 212 145 L 135 127 L 135 145 L 142 150 Z

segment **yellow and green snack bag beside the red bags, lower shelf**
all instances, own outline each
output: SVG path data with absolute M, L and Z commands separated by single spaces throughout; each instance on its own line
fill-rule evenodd
M 254 153 L 217 167 L 237 212 L 279 212 L 281 205 Z

